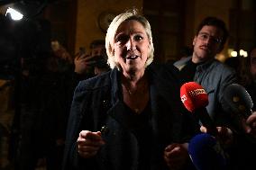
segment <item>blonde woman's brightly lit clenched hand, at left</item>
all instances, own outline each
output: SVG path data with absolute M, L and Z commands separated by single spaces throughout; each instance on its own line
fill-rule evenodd
M 78 154 L 81 157 L 89 158 L 96 156 L 98 149 L 105 144 L 101 138 L 101 132 L 82 130 L 77 140 Z

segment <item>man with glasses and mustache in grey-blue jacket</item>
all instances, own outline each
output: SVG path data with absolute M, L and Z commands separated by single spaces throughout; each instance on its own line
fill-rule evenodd
M 233 69 L 215 59 L 216 54 L 224 49 L 227 38 L 224 22 L 216 17 L 206 17 L 197 27 L 192 56 L 178 60 L 174 66 L 178 67 L 184 83 L 195 81 L 205 88 L 209 99 L 207 112 L 215 125 L 222 127 L 219 130 L 232 136 L 236 122 L 233 122 L 224 101 L 224 88 L 237 79 Z

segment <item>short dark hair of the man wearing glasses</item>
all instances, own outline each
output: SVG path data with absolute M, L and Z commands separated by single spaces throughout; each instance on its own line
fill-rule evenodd
M 222 41 L 221 41 L 221 49 L 224 49 L 224 43 L 225 43 L 225 41 L 227 40 L 227 38 L 228 38 L 228 36 L 229 36 L 229 33 L 228 33 L 228 31 L 227 31 L 227 29 L 226 29 L 226 25 L 225 25 L 225 23 L 224 23 L 224 21 L 223 20 L 221 20 L 221 19 L 218 19 L 218 18 L 216 18 L 216 17 L 214 17 L 214 16 L 208 16 L 208 17 L 206 17 L 202 22 L 200 22 L 200 24 L 198 25 L 198 27 L 197 27 L 197 35 L 198 35 L 198 33 L 199 33 L 199 31 L 201 31 L 202 30 L 202 28 L 204 27 L 204 26 L 206 26 L 206 25 L 208 25 L 208 26 L 215 26 L 215 27 L 217 27 L 217 28 L 219 28 L 219 29 L 221 29 L 222 31 L 223 31 L 223 33 L 224 33 L 224 35 L 223 35 L 223 38 L 222 38 Z

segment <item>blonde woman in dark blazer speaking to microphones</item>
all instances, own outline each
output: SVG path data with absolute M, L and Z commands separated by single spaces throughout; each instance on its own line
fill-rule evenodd
M 178 70 L 152 63 L 150 23 L 134 9 L 117 15 L 105 48 L 111 71 L 75 90 L 63 170 L 186 169 L 198 124 L 180 101 Z

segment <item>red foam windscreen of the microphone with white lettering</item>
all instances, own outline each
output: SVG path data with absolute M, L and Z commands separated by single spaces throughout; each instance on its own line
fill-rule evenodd
M 180 87 L 180 99 L 189 112 L 208 105 L 208 95 L 202 85 L 188 82 Z

